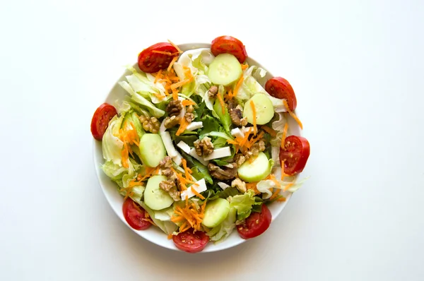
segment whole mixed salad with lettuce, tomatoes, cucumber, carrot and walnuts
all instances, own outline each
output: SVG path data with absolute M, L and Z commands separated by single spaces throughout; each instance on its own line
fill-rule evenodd
M 302 128 L 295 92 L 281 77 L 259 83 L 266 71 L 246 59 L 230 36 L 187 52 L 154 44 L 119 82 L 126 98 L 95 111 L 102 170 L 124 196 L 131 227 L 159 227 L 196 253 L 234 230 L 242 239 L 264 233 L 267 205 L 301 186 L 310 144 L 290 135 L 288 119 Z

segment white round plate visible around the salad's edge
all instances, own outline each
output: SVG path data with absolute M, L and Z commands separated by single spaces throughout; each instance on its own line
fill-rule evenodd
M 211 44 L 205 44 L 205 43 L 190 43 L 190 44 L 179 45 L 179 48 L 182 49 L 182 51 L 187 51 L 189 49 L 210 48 L 210 47 L 211 47 Z M 254 66 L 260 66 L 264 68 L 264 66 L 261 66 L 261 64 L 259 64 L 257 61 L 255 61 L 254 59 L 250 57 L 247 58 L 247 63 L 249 64 L 249 66 L 254 65 Z M 139 70 L 139 67 L 137 64 L 134 65 L 134 68 Z M 119 78 L 118 81 L 125 80 L 125 76 L 128 76 L 128 75 L 131 75 L 131 72 L 125 71 L 125 73 Z M 272 77 L 273 75 L 267 71 L 264 81 Z M 259 81 L 259 82 L 261 82 L 262 84 L 263 81 Z M 112 90 L 110 90 L 109 94 L 107 95 L 105 102 L 114 104 L 114 102 L 116 102 L 117 100 L 122 100 L 125 95 L 127 95 L 126 91 L 123 88 L 121 88 L 120 85 L 116 83 L 114 87 L 112 88 Z M 289 119 L 289 128 L 290 128 L 290 135 L 301 136 L 301 131 L 298 124 L 291 118 Z M 124 224 L 127 225 L 132 231 L 136 232 L 136 234 L 139 234 L 144 239 L 147 239 L 148 241 L 151 241 L 152 243 L 157 244 L 159 246 L 163 246 L 167 249 L 180 251 L 174 246 L 172 239 L 168 240 L 167 235 L 164 232 L 162 232 L 158 227 L 149 227 L 146 230 L 136 230 L 128 225 L 128 223 L 124 219 L 124 215 L 122 214 L 122 203 L 124 203 L 124 197 L 122 197 L 118 193 L 117 185 L 105 175 L 105 173 L 102 171 L 100 167 L 104 163 L 104 160 L 102 157 L 102 143 L 100 141 L 93 140 L 93 155 L 94 155 L 95 171 L 97 173 L 102 191 L 103 193 L 105 193 L 107 201 L 109 202 L 110 206 L 112 207 L 114 212 L 117 214 L 117 216 L 122 220 L 122 222 L 124 222 Z M 271 214 L 272 214 L 272 220 L 274 220 L 281 213 L 285 205 L 290 200 L 290 197 L 291 197 L 291 194 L 286 197 L 287 200 L 285 202 L 283 203 L 275 202 L 269 205 L 269 210 L 271 211 Z M 241 239 L 237 233 L 237 230 L 235 230 L 227 239 L 225 239 L 225 241 L 219 244 L 209 243 L 206 246 L 206 248 L 200 253 L 208 253 L 208 252 L 228 249 L 238 244 L 242 244 L 244 241 L 246 240 Z

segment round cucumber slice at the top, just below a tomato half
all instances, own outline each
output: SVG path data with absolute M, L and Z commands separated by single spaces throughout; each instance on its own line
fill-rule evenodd
M 209 66 L 208 76 L 213 84 L 230 85 L 242 76 L 242 65 L 232 54 L 218 54 Z

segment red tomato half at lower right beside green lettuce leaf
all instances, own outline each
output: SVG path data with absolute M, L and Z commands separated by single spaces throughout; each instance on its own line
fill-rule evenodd
M 269 208 L 262 204 L 261 213 L 252 212 L 245 220 L 244 225 L 237 226 L 237 232 L 242 239 L 257 237 L 271 225 L 271 218 Z

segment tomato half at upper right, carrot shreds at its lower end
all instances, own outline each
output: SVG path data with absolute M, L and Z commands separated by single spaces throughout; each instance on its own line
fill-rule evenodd
M 298 105 L 296 100 L 295 91 L 293 90 L 288 80 L 285 80 L 282 77 L 274 77 L 266 81 L 265 90 L 278 99 L 287 100 L 288 108 L 290 111 L 294 111 Z

